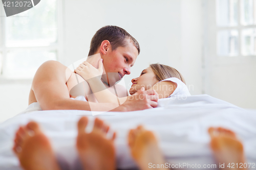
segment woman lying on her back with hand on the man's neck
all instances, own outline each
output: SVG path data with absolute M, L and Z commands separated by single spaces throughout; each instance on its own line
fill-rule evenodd
M 99 60 L 99 68 L 93 67 L 87 61 L 80 64 L 75 72 L 88 82 L 95 98 L 99 103 L 117 103 L 126 101 L 126 97 L 117 98 L 103 85 L 101 75 L 103 72 L 102 59 Z M 138 90 L 155 90 L 159 94 L 159 99 L 169 98 L 172 96 L 190 95 L 183 76 L 173 67 L 163 64 L 151 64 L 144 69 L 138 78 L 132 79 L 130 94 Z M 117 100 L 118 99 L 118 100 Z

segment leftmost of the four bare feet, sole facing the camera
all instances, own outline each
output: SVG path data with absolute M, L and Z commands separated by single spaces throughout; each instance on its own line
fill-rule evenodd
M 35 122 L 21 126 L 16 132 L 13 151 L 26 170 L 59 169 L 49 139 Z

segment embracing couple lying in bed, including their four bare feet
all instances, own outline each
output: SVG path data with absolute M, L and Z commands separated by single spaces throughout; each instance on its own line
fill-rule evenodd
M 125 30 L 116 26 L 103 27 L 92 38 L 89 52 L 91 57 L 80 64 L 75 72 L 56 61 L 45 62 L 38 68 L 29 104 L 37 102 L 42 110 L 134 111 L 156 107 L 159 98 L 190 95 L 181 74 L 176 69 L 161 64 L 151 64 L 138 78 L 132 80 L 130 96 L 126 95 L 123 87 L 114 86 L 124 75 L 130 74 L 131 66 L 139 53 L 138 42 Z M 81 82 L 84 90 L 79 86 Z M 89 102 L 70 99 L 77 96 L 73 95 L 77 91 Z M 117 93 L 118 98 L 115 95 Z M 115 134 L 107 138 L 109 126 L 98 118 L 95 119 L 92 132 L 86 133 L 84 129 L 87 122 L 87 117 L 79 120 L 76 144 L 84 169 L 115 169 Z M 210 134 L 214 134 L 213 131 L 219 133 L 217 137 L 211 135 L 212 148 L 217 149 L 217 157 L 230 154 L 228 142 L 237 139 L 229 131 L 211 129 Z M 164 163 L 151 131 L 139 126 L 130 131 L 128 139 L 132 156 L 141 169 L 148 169 L 150 162 Z M 50 142 L 37 123 L 30 122 L 21 126 L 14 143 L 13 150 L 23 168 L 59 169 Z M 241 147 L 239 148 L 241 143 L 236 143 L 236 146 L 232 146 L 236 151 L 234 155 L 238 151 L 242 153 Z

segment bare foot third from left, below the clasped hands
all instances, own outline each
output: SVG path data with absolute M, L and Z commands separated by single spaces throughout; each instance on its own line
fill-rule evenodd
M 145 130 L 142 126 L 131 129 L 128 142 L 132 156 L 141 170 L 167 169 L 164 167 L 154 168 L 152 165 L 164 164 L 164 157 L 158 147 L 158 142 L 152 131 Z M 150 164 L 152 163 L 152 164 Z

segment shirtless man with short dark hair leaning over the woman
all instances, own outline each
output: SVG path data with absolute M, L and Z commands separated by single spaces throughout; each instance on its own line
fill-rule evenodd
M 91 41 L 87 61 L 98 67 L 103 59 L 104 71 L 102 82 L 112 86 L 115 80 L 108 73 L 116 73 L 122 78 L 131 73 L 131 66 L 140 53 L 139 43 L 124 29 L 117 26 L 106 26 L 96 32 Z M 129 96 L 125 103 L 116 106 L 114 103 L 96 103 L 72 100 L 70 91 L 81 82 L 81 77 L 57 61 L 43 63 L 34 76 L 29 94 L 29 104 L 38 102 L 42 110 L 92 110 L 93 111 L 133 111 L 157 106 L 158 94 L 154 91 L 139 90 Z M 91 90 L 87 82 L 86 94 Z M 88 100 L 88 99 L 87 99 Z

